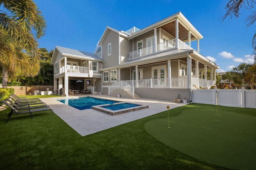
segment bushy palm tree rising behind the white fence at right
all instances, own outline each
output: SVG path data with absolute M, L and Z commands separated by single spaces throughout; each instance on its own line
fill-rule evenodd
M 251 89 L 254 89 L 253 84 L 255 77 L 253 78 L 252 75 L 249 72 L 249 69 L 253 66 L 254 64 L 250 63 L 241 63 L 237 67 L 233 67 L 233 71 L 231 71 L 232 74 L 232 80 L 234 81 L 234 84 L 240 86 L 244 86 L 244 81 L 249 84 Z M 248 77 L 252 78 L 248 78 Z

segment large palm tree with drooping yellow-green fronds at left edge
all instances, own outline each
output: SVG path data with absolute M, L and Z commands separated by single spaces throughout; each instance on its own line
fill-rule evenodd
M 28 76 L 38 73 L 40 56 L 36 38 L 44 35 L 46 22 L 32 0 L 0 0 L 0 6 L 3 8 L 0 10 L 0 66 L 3 86 L 7 86 L 7 75 L 14 75 L 16 68 Z

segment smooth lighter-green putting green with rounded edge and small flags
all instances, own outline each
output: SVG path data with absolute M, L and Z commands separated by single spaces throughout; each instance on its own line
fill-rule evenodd
M 172 110 L 169 110 L 171 113 Z M 152 119 L 146 131 L 165 145 L 198 160 L 232 169 L 256 167 L 256 116 L 213 109 L 184 109 Z

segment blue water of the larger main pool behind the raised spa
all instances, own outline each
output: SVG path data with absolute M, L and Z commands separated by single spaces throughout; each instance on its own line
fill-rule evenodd
M 68 106 L 75 107 L 79 110 L 84 109 L 92 109 L 92 106 L 102 105 L 102 104 L 114 104 L 118 101 L 114 100 L 106 100 L 100 98 L 92 98 L 92 97 L 83 97 L 83 98 L 75 98 L 75 99 L 62 99 L 58 100 Z

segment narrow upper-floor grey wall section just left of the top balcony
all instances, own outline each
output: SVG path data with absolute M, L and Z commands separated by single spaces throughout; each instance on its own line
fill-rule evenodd
M 121 64 L 128 61 L 129 53 L 132 51 L 132 41 L 126 38 L 120 37 L 120 55 Z

